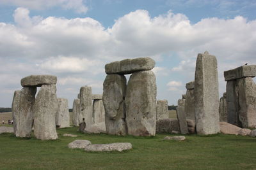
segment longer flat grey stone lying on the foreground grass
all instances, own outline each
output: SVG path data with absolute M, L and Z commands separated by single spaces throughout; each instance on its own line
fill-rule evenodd
M 131 150 L 131 143 L 108 143 L 108 144 L 94 144 L 88 145 L 84 148 L 87 152 L 111 152 L 118 151 L 122 152 L 123 150 Z

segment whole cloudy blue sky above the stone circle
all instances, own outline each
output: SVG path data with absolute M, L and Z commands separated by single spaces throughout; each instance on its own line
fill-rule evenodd
M 0 0 L 0 107 L 24 76 L 53 74 L 71 108 L 81 86 L 102 93 L 105 64 L 135 57 L 156 60 L 157 99 L 177 104 L 205 50 L 222 94 L 223 71 L 256 64 L 255 9 L 256 0 Z

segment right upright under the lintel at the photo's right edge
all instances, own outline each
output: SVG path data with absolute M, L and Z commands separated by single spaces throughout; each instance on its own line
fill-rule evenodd
M 256 84 L 252 77 L 237 79 L 239 120 L 243 128 L 256 128 Z

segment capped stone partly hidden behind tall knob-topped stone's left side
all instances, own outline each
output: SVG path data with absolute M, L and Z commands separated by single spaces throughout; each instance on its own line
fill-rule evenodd
M 185 113 L 186 118 L 194 120 L 195 121 L 195 101 L 194 101 L 194 95 L 195 95 L 195 82 L 191 81 L 189 83 L 186 83 L 186 103 L 185 103 Z

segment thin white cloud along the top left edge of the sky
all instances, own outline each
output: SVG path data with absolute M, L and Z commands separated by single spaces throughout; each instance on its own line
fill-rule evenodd
M 12 4 L 31 10 L 45 10 L 54 6 L 61 6 L 65 10 L 74 10 L 77 13 L 86 13 L 88 11 L 88 7 L 83 0 L 1 0 L 0 4 Z

